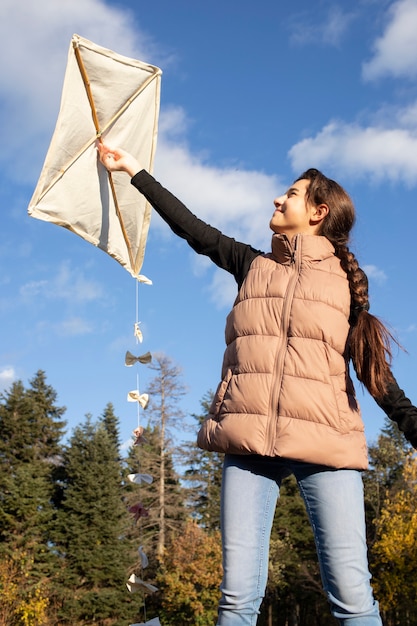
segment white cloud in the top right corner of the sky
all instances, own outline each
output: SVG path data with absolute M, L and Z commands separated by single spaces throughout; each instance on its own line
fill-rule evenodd
M 417 75 L 417 1 L 398 0 L 388 11 L 385 31 L 374 44 L 374 55 L 363 64 L 365 80 Z

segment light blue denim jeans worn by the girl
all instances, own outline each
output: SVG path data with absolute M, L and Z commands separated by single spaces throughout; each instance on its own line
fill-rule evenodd
M 361 473 L 255 455 L 225 456 L 217 626 L 257 622 L 279 488 L 290 474 L 310 518 L 332 614 L 345 626 L 382 626 L 370 585 Z

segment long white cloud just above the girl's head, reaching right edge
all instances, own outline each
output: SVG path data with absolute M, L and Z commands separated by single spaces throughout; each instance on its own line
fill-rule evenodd
M 390 124 L 360 126 L 332 121 L 314 137 L 295 144 L 289 157 L 295 171 L 327 168 L 357 178 L 417 184 L 416 104 L 397 112 Z

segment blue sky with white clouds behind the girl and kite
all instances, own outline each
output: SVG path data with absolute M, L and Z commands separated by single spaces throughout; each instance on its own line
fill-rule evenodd
M 125 367 L 126 350 L 181 368 L 187 416 L 219 380 L 230 276 L 153 214 L 142 267 L 153 284 L 136 290 L 103 251 L 27 214 L 77 33 L 162 69 L 154 175 L 225 234 L 268 251 L 273 199 L 307 167 L 347 189 L 371 312 L 404 348 L 393 370 L 416 403 L 416 32 L 417 0 L 2 0 L 3 392 L 44 370 L 69 435 L 111 402 L 128 445 L 127 393 L 146 392 L 154 372 Z M 357 392 L 374 443 L 384 416 Z

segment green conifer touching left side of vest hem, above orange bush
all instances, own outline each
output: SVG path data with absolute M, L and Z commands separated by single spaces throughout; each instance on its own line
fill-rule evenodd
M 206 419 L 213 392 L 208 392 L 200 402 L 201 414 L 193 415 L 200 427 Z M 192 516 L 206 530 L 220 528 L 220 493 L 224 455 L 201 450 L 195 442 L 184 445 L 183 464 L 187 467 L 183 479 L 189 483 L 187 507 Z

